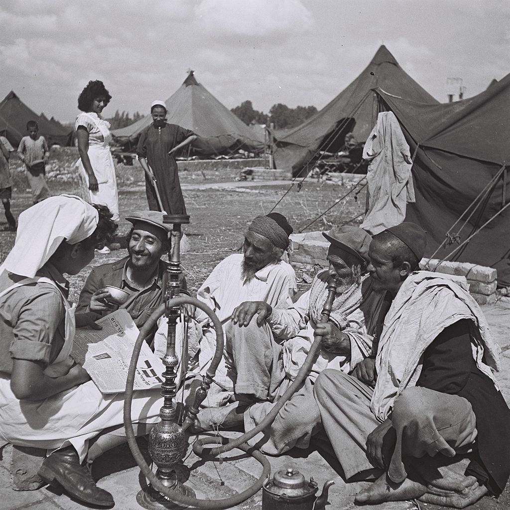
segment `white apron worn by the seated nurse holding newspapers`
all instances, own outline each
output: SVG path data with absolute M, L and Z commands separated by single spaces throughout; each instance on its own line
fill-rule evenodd
M 35 277 L 18 282 L 0 296 L 34 282 L 49 283 L 58 289 L 51 279 Z M 73 364 L 70 352 L 74 339 L 74 305 L 70 305 L 63 294 L 62 299 L 66 307 L 66 338 L 57 359 L 44 370 L 49 377 L 67 373 Z M 134 392 L 133 423 L 158 421 L 163 403 L 160 392 L 157 388 Z M 11 443 L 51 452 L 71 444 L 82 462 L 89 439 L 105 428 L 123 423 L 123 406 L 123 393 L 103 395 L 92 381 L 45 400 L 19 400 L 11 391 L 10 375 L 0 372 L 0 446 Z

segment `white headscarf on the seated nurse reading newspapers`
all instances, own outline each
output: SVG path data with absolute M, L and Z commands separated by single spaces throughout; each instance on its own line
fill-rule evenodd
M 97 209 L 78 196 L 46 198 L 18 218 L 16 241 L 4 270 L 32 278 L 62 243 L 76 244 L 91 236 L 99 221 Z

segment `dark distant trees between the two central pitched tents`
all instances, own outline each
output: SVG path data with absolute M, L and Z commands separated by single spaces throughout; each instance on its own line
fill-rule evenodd
M 289 108 L 287 105 L 278 103 L 273 105 L 269 110 L 269 115 L 253 109 L 251 101 L 243 101 L 239 106 L 231 110 L 245 124 L 255 122 L 257 124 L 274 123 L 275 129 L 285 129 L 288 127 L 296 127 L 317 113 L 315 106 L 298 106 Z

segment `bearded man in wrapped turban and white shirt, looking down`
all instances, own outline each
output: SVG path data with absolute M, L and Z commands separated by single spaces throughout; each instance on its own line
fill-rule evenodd
M 292 232 L 285 216 L 279 213 L 257 216 L 244 235 L 243 253 L 232 254 L 221 261 L 198 289 L 197 299 L 213 310 L 225 324 L 226 332 L 230 317 L 243 301 L 263 300 L 274 308 L 287 308 L 292 303 L 296 275 L 292 266 L 282 260 Z M 195 348 L 192 338 L 188 349 L 191 362 L 197 360 L 190 371 L 203 375 L 213 358 L 216 334 L 208 316 L 201 310 L 190 307 L 189 314 L 193 321 L 188 330 L 194 336 L 197 326 L 200 329 L 199 345 Z M 167 321 L 163 317 L 155 337 L 158 351 L 166 345 L 166 333 Z M 196 349 L 198 354 L 193 360 Z M 177 352 L 177 357 L 181 359 L 181 353 Z M 233 394 L 232 371 L 226 362 L 223 359 L 216 371 L 206 400 L 208 405 L 223 405 Z

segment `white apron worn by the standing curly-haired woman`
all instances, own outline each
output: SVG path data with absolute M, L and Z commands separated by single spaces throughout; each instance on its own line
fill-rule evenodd
M 101 205 L 108 206 L 113 213 L 112 220 L 119 220 L 119 198 L 117 194 L 117 178 L 115 176 L 115 166 L 113 164 L 112 154 L 110 152 L 110 140 L 112 135 L 106 126 L 105 122 L 98 122 L 92 115 L 85 114 L 95 124 L 97 129 L 103 135 L 103 143 L 90 143 L 87 154 L 89 156 L 90 164 L 94 170 L 94 175 L 97 179 L 99 189 L 97 191 L 90 191 L 89 176 L 85 171 L 82 160 L 77 162 L 78 171 L 83 181 L 84 187 L 88 193 L 88 200 L 90 203 L 100 203 Z

